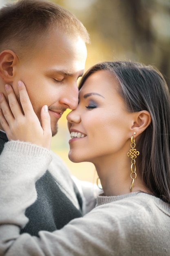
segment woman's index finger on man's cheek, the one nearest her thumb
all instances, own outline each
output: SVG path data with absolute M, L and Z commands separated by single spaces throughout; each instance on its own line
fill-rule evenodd
M 24 114 L 25 115 L 35 114 L 34 110 L 33 110 L 33 106 L 29 99 L 29 95 L 26 91 L 26 87 L 22 81 L 18 81 L 18 90 L 20 93 L 20 103 L 21 103 L 22 109 L 24 111 Z

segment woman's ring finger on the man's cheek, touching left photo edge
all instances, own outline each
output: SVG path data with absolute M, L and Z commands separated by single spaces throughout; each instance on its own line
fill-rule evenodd
M 7 123 L 10 125 L 13 122 L 14 117 L 3 93 L 0 93 L 0 107 L 2 109 L 4 118 L 6 119 Z

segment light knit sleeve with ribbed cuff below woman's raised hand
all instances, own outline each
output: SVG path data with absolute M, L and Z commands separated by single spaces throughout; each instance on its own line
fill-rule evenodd
M 25 209 L 37 196 L 35 182 L 51 159 L 49 150 L 28 142 L 10 141 L 4 145 L 0 155 L 0 225 L 26 225 Z

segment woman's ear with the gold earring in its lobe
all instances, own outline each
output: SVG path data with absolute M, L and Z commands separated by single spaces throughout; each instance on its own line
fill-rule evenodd
M 152 118 L 147 110 L 141 110 L 139 112 L 135 112 L 134 114 L 135 119 L 131 127 L 132 134 L 136 132 L 136 134 L 139 135 L 150 125 Z

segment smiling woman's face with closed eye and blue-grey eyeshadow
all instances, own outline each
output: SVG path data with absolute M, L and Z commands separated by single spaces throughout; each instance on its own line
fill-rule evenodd
M 106 70 L 85 81 L 77 108 L 67 115 L 71 161 L 95 164 L 105 157 L 120 157 L 127 142 L 130 147 L 132 113 L 126 111 L 117 89 L 116 79 Z

